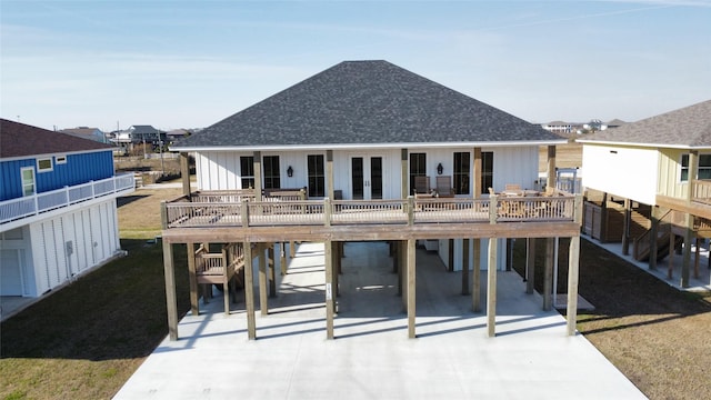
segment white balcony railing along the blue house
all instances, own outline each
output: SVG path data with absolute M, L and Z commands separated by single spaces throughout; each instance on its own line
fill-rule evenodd
M 0 231 L 10 230 L 33 219 L 51 217 L 101 201 L 107 197 L 119 197 L 136 190 L 132 173 L 74 184 L 52 191 L 26 196 L 0 202 Z

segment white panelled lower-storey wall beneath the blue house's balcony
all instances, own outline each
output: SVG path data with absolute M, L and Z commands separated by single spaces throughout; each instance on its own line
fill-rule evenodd
M 120 250 L 116 200 L 34 222 L 29 233 L 34 284 L 24 296 L 37 297 Z

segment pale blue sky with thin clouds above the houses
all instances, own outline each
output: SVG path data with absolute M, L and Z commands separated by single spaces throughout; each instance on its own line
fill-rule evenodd
M 384 59 L 531 122 L 711 98 L 711 0 L 0 0 L 0 113 L 200 128 L 343 60 Z

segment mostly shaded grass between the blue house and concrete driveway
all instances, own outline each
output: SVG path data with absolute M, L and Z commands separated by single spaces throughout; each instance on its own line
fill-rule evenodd
M 0 399 L 108 399 L 168 334 L 162 246 L 122 240 L 110 262 L 2 322 Z M 189 309 L 176 247 L 178 309 Z

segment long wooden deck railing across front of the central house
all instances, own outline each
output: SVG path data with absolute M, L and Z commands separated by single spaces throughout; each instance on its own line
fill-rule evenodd
M 163 229 L 339 224 L 574 221 L 577 198 L 504 197 L 393 200 L 200 201 L 184 197 L 163 203 Z M 233 197 L 227 196 L 226 200 Z M 212 198 L 216 200 L 216 198 Z M 580 202 L 580 199 L 578 200 Z

